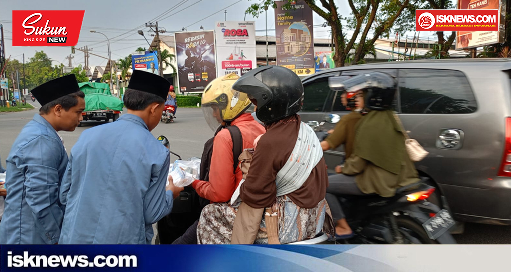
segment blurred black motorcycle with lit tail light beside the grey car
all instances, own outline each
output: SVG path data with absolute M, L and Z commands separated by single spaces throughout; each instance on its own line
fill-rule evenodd
M 329 115 L 324 121 L 339 122 L 340 117 Z M 322 125 L 308 123 L 320 140 L 326 138 Z M 354 237 L 341 241 L 346 244 L 456 244 L 449 230 L 456 224 L 448 206 L 440 209 L 428 198 L 436 188 L 427 184 L 428 178 L 396 191 L 393 197 L 377 194 L 363 196 L 336 195 L 341 202 L 346 221 Z M 335 241 L 338 242 L 338 241 Z

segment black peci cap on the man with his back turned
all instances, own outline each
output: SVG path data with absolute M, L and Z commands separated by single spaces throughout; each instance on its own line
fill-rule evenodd
M 133 70 L 128 89 L 136 89 L 141 92 L 151 93 L 167 100 L 169 95 L 170 82 L 159 75 Z

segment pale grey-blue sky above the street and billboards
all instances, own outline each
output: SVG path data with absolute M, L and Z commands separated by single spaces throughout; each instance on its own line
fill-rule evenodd
M 158 26 L 167 30 L 162 35 L 172 35 L 173 31 L 180 31 L 183 27 L 187 30 L 213 30 L 215 22 L 224 20 L 244 20 L 245 10 L 253 3 L 260 0 L 0 0 L 0 24 L 4 26 L 4 42 L 6 58 L 22 61 L 21 54 L 25 53 L 25 61 L 34 55 L 36 51 L 43 50 L 55 60 L 54 65 L 68 64 L 66 56 L 71 54 L 70 47 L 13 47 L 12 46 L 12 10 L 85 10 L 80 38 L 77 48 L 88 46 L 91 53 L 108 56 L 106 38 L 99 33 L 90 33 L 91 29 L 103 32 L 110 39 L 112 59 L 119 59 L 132 53 L 137 47 L 148 47 L 144 37 L 137 34 L 137 30 L 143 30 L 149 41 L 152 40 L 146 22 L 154 19 L 165 12 L 158 19 Z M 197 4 L 195 4 L 197 3 Z M 336 0 L 339 13 L 347 16 L 351 9 L 347 0 Z M 189 7 L 190 6 L 190 7 Z M 188 7 L 188 8 L 187 8 Z M 227 10 L 225 14 L 224 10 Z M 218 12 L 218 13 L 216 13 Z M 207 17 L 207 18 L 206 18 Z M 246 14 L 247 20 L 255 20 L 257 35 L 265 35 L 265 15 L 254 18 Z M 315 38 L 330 38 L 330 28 L 321 27 L 324 19 L 313 12 L 313 25 Z M 270 7 L 267 11 L 268 35 L 274 35 L 274 12 Z M 350 33 L 350 32 L 348 32 Z M 372 32 L 369 32 L 370 34 Z M 413 36 L 413 32 L 407 33 Z M 421 33 L 421 38 L 435 39 L 432 33 Z M 84 64 L 84 53 L 76 51 L 73 54 L 72 65 Z M 105 65 L 106 59 L 92 56 L 89 57 L 89 65 Z

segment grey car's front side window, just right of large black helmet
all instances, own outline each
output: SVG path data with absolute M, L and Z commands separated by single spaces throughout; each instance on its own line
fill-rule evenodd
M 330 92 L 328 77 L 304 84 L 304 105 L 301 107 L 301 111 L 324 111 L 326 107 L 332 105 L 332 101 L 327 99 Z

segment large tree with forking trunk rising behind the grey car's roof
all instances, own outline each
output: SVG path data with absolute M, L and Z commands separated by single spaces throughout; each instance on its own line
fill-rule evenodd
M 285 8 L 291 9 L 292 0 L 284 0 L 287 3 Z M 355 46 L 355 41 L 360 35 L 359 42 L 355 48 L 353 61 L 359 62 L 364 57 L 364 47 L 366 42 L 374 44 L 382 35 L 392 29 L 394 21 L 399 17 L 405 8 L 410 7 L 410 0 L 347 0 L 353 15 L 346 18 L 347 25 L 352 26 L 354 33 L 350 39 L 347 39 L 343 32 L 342 18 L 337 12 L 337 5 L 334 0 L 304 0 L 311 9 L 325 19 L 332 28 L 332 37 L 334 39 L 335 54 L 334 61 L 336 66 L 344 66 L 345 59 Z M 414 3 L 419 0 L 412 0 Z M 258 16 L 264 11 L 265 6 L 276 7 L 274 0 L 263 0 L 259 4 L 252 4 L 247 13 Z M 378 12 L 380 11 L 380 12 Z M 374 35 L 367 39 L 369 30 L 376 24 Z M 364 27 L 362 28 L 362 25 Z

